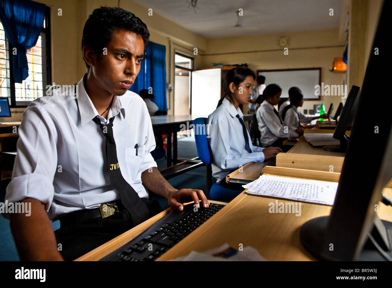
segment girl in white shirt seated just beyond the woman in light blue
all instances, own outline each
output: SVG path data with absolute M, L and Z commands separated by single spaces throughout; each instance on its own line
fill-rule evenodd
M 283 121 L 274 107 L 278 105 L 281 94 L 282 89 L 278 85 L 268 85 L 263 91 L 263 103 L 257 110 L 256 117 L 261 134 L 261 146 L 276 146 L 287 152 L 290 147 L 283 145 L 283 141 L 298 138 L 299 135 L 303 134 L 303 130 L 296 129 L 293 131 L 283 125 Z

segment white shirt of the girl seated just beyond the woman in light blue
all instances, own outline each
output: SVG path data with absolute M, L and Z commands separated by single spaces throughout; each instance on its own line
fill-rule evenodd
M 257 109 L 256 118 L 259 124 L 261 146 L 269 147 L 279 138 L 298 138 L 298 134 L 280 122 L 280 117 L 275 114 L 274 106 L 267 101 L 261 103 Z M 280 120 L 279 120 L 280 119 Z M 287 133 L 285 133 L 287 132 Z

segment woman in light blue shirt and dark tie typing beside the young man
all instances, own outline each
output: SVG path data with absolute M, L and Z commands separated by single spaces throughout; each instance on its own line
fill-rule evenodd
M 212 152 L 212 176 L 223 187 L 242 191 L 241 185 L 227 186 L 227 174 L 249 162 L 263 162 L 283 152 L 278 147 L 261 148 L 252 145 L 238 107 L 248 104 L 255 74 L 249 68 L 231 69 L 223 82 L 224 96 L 216 110 L 208 116 L 207 131 Z

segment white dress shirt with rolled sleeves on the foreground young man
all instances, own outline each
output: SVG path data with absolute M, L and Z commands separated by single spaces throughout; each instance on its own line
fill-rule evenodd
M 8 202 L 26 197 L 40 200 L 49 219 L 120 199 L 110 184 L 105 136 L 92 121 L 98 112 L 85 91 L 83 78 L 78 83 L 77 103 L 76 97 L 66 96 L 67 92 L 38 98 L 23 113 L 6 194 Z M 121 174 L 140 198 L 148 199 L 141 174 L 157 165 L 150 154 L 155 139 L 147 107 L 138 94 L 127 91 L 114 96 L 108 119 L 113 116 Z

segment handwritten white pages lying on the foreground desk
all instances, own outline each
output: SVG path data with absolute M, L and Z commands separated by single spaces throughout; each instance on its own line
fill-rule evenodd
M 338 183 L 261 175 L 242 187 L 247 194 L 334 205 Z

